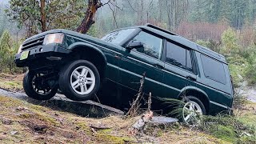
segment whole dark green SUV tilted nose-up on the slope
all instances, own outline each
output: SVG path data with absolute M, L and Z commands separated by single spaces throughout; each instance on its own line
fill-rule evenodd
M 150 24 L 115 30 L 102 39 L 50 30 L 26 39 L 15 62 L 29 68 L 26 94 L 41 100 L 58 89 L 67 98 L 88 100 L 104 81 L 138 90 L 136 82 L 146 73 L 146 94 L 187 96 L 194 102 L 188 109 L 202 114 L 229 110 L 233 102 L 230 72 L 221 54 Z

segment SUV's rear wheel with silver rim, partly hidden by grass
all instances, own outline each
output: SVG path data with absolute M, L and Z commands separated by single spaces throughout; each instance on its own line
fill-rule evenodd
M 203 103 L 194 96 L 187 96 L 182 110 L 183 121 L 188 125 L 198 125 L 202 115 L 206 114 Z

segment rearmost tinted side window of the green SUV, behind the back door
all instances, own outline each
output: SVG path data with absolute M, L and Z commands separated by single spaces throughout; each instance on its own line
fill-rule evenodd
M 224 66 L 221 62 L 213 58 L 206 57 L 201 54 L 202 68 L 206 78 L 210 78 L 216 82 L 226 84 L 226 75 Z

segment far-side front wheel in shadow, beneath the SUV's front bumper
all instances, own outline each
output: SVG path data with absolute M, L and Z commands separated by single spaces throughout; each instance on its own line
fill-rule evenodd
M 45 74 L 26 72 L 23 78 L 23 88 L 30 98 L 37 100 L 49 100 L 58 91 L 54 81 L 49 81 Z

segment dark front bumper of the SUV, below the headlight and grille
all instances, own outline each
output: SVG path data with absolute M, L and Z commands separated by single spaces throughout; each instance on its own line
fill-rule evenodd
M 37 67 L 37 66 L 48 66 L 53 64 L 53 59 L 62 59 L 70 54 L 70 50 L 64 49 L 61 46 L 56 46 L 54 44 L 46 46 L 35 46 L 28 49 L 28 58 L 20 60 L 22 53 L 15 55 L 15 63 L 18 67 Z M 24 50 L 27 51 L 27 50 Z

